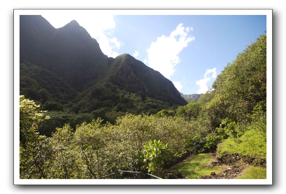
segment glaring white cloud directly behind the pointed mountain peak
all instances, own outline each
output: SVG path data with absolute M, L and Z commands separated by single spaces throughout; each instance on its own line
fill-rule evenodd
M 112 15 L 97 13 L 95 11 L 84 10 L 75 14 L 73 11 L 45 12 L 42 16 L 55 28 L 63 27 L 71 20 L 76 20 L 80 26 L 84 27 L 90 36 L 99 43 L 101 51 L 108 57 L 116 57 L 119 54 L 114 49 L 120 49 L 122 42 L 113 37 L 115 21 Z

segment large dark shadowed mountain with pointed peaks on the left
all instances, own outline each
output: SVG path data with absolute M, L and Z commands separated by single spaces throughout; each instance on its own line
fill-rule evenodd
M 20 16 L 20 94 L 74 113 L 150 112 L 185 105 L 173 83 L 129 54 L 115 59 L 75 20 L 54 28 Z

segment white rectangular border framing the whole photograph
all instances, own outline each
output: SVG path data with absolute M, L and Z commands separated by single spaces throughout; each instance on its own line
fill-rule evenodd
M 111 15 L 266 15 L 267 32 L 267 169 L 266 179 L 20 179 L 19 95 L 20 95 L 20 15 L 46 12 L 97 11 Z M 272 9 L 14 9 L 14 185 L 272 185 L 273 184 L 273 19 Z

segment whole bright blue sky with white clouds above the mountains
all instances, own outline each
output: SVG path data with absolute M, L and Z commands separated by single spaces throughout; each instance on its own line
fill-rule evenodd
M 109 57 L 129 53 L 183 94 L 204 93 L 228 62 L 266 30 L 266 16 L 42 15 L 59 28 L 76 20 Z M 89 16 L 92 18 L 92 16 Z

